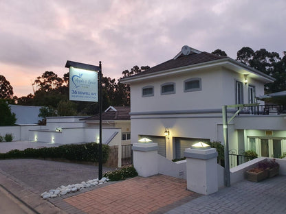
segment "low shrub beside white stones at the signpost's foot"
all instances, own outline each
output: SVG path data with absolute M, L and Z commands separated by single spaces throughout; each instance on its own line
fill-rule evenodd
M 108 171 L 103 174 L 104 177 L 111 181 L 125 180 L 126 178 L 133 178 L 138 176 L 136 169 L 133 166 L 122 167 L 114 171 Z

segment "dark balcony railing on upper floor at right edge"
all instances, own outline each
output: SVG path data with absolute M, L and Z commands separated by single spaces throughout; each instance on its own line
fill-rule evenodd
M 248 106 L 244 107 L 239 114 L 248 115 L 280 115 L 286 114 L 286 106 L 283 105 L 259 105 L 259 106 Z

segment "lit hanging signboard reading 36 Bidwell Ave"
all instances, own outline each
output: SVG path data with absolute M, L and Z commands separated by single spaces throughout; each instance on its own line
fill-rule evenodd
M 98 73 L 69 67 L 69 100 L 98 102 Z

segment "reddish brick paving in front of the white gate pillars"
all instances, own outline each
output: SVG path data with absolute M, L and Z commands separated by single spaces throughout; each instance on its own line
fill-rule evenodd
M 166 213 L 197 197 L 186 189 L 186 180 L 157 175 L 131 178 L 64 201 L 89 214 Z

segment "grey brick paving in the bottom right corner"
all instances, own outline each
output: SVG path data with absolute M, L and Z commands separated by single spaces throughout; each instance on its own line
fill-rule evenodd
M 286 176 L 276 176 L 262 182 L 243 180 L 211 195 L 191 200 L 168 214 L 284 214 L 286 213 Z

